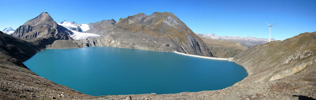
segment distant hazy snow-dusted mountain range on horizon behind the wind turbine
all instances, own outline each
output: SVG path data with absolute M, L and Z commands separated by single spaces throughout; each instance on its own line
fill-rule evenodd
M 255 37 L 235 37 L 235 36 L 217 36 L 216 34 L 198 34 L 199 36 L 208 37 L 211 39 L 217 40 L 225 40 L 225 41 L 235 41 L 247 47 L 256 46 L 259 44 L 265 44 L 269 42 L 269 39 L 258 39 Z M 271 39 L 271 41 L 275 41 L 275 39 Z

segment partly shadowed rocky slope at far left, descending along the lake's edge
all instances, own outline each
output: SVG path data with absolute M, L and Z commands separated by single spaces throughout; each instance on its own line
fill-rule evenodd
M 22 63 L 40 51 L 36 45 L 0 31 L 0 100 L 91 99 L 36 75 Z

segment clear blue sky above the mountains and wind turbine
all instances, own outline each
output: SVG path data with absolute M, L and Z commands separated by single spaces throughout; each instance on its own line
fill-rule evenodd
M 0 30 L 48 12 L 57 22 L 97 22 L 172 12 L 196 33 L 284 40 L 316 31 L 316 0 L 2 0 Z

